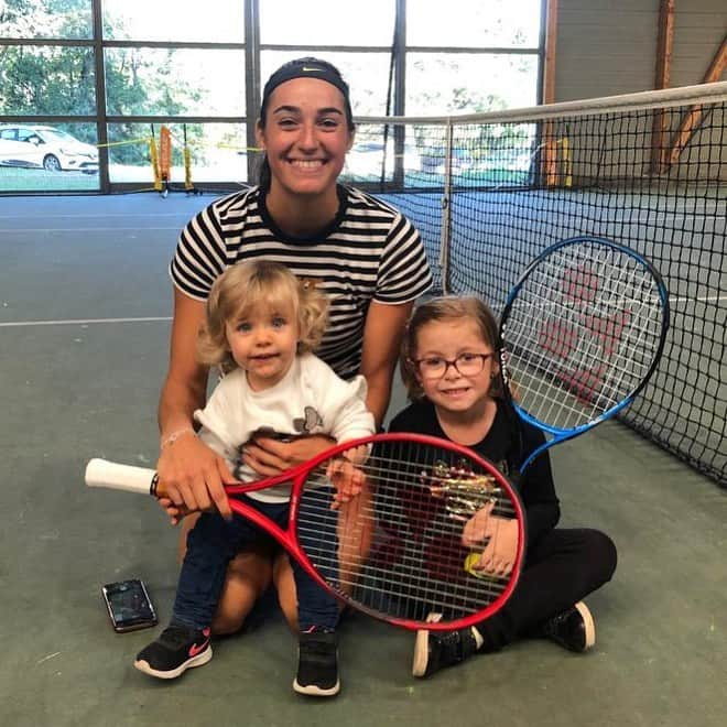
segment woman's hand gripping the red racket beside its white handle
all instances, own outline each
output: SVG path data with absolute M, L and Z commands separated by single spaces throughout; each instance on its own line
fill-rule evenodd
M 225 459 L 192 431 L 162 447 L 156 471 L 164 491 L 160 504 L 172 522 L 187 512 L 213 508 L 227 520 L 232 517 L 224 486 L 236 480 Z

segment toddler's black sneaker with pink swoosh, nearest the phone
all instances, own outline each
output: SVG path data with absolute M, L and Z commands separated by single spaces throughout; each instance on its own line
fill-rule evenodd
M 172 625 L 137 654 L 133 665 L 151 676 L 176 679 L 185 670 L 202 666 L 210 659 L 209 629 L 196 631 Z

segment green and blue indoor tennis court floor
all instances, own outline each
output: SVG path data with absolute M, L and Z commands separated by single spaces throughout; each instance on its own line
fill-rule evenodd
M 615 579 L 588 600 L 590 652 L 522 641 L 420 681 L 413 636 L 356 616 L 341 629 L 341 694 L 317 703 L 291 688 L 296 643 L 273 611 L 180 681 L 132 668 L 156 631 L 113 633 L 100 586 L 143 578 L 167 621 L 177 532 L 153 502 L 90 491 L 83 473 L 95 456 L 155 462 L 166 265 L 210 200 L 0 198 L 1 721 L 723 725 L 727 491 L 618 422 L 552 451 L 562 524 L 599 528 L 619 550 Z M 398 387 L 392 411 L 403 402 Z

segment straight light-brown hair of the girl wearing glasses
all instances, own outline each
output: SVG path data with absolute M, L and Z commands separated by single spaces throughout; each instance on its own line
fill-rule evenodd
M 478 297 L 474 295 L 442 295 L 421 303 L 414 308 L 406 323 L 399 358 L 401 378 L 411 401 L 424 397 L 424 389 L 422 389 L 422 384 L 416 376 L 416 365 L 414 364 L 416 359 L 416 347 L 419 345 L 419 332 L 427 323 L 434 321 L 447 322 L 462 319 L 473 321 L 479 328 L 482 341 L 487 346 L 490 346 L 493 351 L 499 352 L 500 337 L 497 318 L 492 311 Z M 502 395 L 502 386 L 498 376 L 492 378 L 490 395 Z

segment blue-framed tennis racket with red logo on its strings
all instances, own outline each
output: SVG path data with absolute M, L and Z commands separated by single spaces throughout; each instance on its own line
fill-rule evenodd
M 500 318 L 500 371 L 518 414 L 549 447 L 618 414 L 654 372 L 669 297 L 654 267 L 607 239 L 549 247 L 521 275 Z

